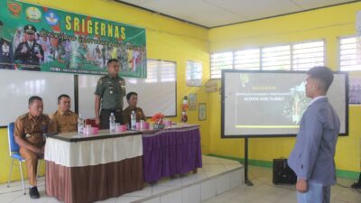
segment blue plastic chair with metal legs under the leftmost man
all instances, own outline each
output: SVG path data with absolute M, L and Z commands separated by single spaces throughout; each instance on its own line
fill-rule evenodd
M 13 166 L 14 166 L 14 161 L 17 160 L 19 161 L 19 169 L 20 169 L 20 174 L 22 175 L 22 183 L 23 183 L 23 168 L 22 168 L 22 162 L 25 161 L 23 159 L 23 157 L 20 155 L 19 152 L 19 145 L 15 142 L 15 138 L 14 138 L 14 122 L 10 123 L 7 126 L 7 135 L 9 138 L 9 152 L 10 152 L 10 157 L 12 158 L 12 163 L 10 165 L 10 171 L 9 171 L 9 179 L 7 180 L 7 188 L 10 187 L 10 180 L 11 180 L 11 175 L 13 172 Z M 23 194 L 25 195 L 25 184 L 23 183 Z

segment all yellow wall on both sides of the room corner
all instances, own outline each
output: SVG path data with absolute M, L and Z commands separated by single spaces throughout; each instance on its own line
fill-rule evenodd
M 186 60 L 202 62 L 204 83 L 209 78 L 209 52 L 236 51 L 259 46 L 325 39 L 326 64 L 333 69 L 338 69 L 338 36 L 355 34 L 356 11 L 361 10 L 361 3 L 339 5 L 207 30 L 112 0 L 27 0 L 25 2 L 145 28 L 147 57 L 177 62 L 178 116 L 171 120 L 180 122 L 182 97 L 196 93 L 198 102 L 208 105 L 206 121 L 198 121 L 198 111 L 188 112 L 189 123 L 200 125 L 202 152 L 233 157 L 244 157 L 244 141 L 243 139 L 220 139 L 220 95 L 218 92 L 205 93 L 203 87 L 186 87 Z M 359 171 L 360 111 L 360 106 L 349 108 L 349 136 L 340 137 L 337 146 L 336 164 L 339 170 Z M 273 158 L 287 157 L 292 150 L 294 140 L 294 138 L 250 139 L 249 159 L 272 161 Z M 2 169 L 0 183 L 6 181 L 9 165 L 7 133 L 6 129 L 2 128 L 0 129 L 0 168 Z M 42 167 L 41 174 L 43 171 Z M 17 169 L 14 170 L 12 178 L 20 179 Z

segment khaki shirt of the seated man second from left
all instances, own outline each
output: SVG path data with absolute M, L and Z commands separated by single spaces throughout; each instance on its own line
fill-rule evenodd
M 78 128 L 78 115 L 70 110 L 66 112 L 57 110 L 51 115 L 51 125 L 56 133 L 76 132 Z

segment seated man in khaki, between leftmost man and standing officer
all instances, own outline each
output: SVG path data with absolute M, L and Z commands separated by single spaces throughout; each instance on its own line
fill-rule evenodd
M 51 115 L 51 125 L 55 133 L 68 133 L 77 131 L 78 115 L 70 110 L 70 97 L 58 97 L 58 110 Z

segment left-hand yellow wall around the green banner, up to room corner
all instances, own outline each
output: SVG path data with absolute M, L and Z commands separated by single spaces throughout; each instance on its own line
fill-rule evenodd
M 208 30 L 189 23 L 116 3 L 110 0 L 28 0 L 27 3 L 49 6 L 71 13 L 86 14 L 119 23 L 132 24 L 146 29 L 147 57 L 154 60 L 171 60 L 177 63 L 177 117 L 180 122 L 182 97 L 196 93 L 198 102 L 207 103 L 208 94 L 204 88 L 189 88 L 185 85 L 186 60 L 197 60 L 203 64 L 204 82 L 209 75 Z M 24 101 L 26 105 L 27 101 Z M 156 102 L 156 101 L 154 101 Z M 46 108 L 46 106 L 44 106 Z M 199 122 L 198 111 L 189 111 L 189 122 L 199 124 L 202 134 L 202 152 L 209 152 L 208 120 Z M 10 159 L 8 156 L 6 129 L 0 129 L 0 183 L 7 179 Z M 42 164 L 42 174 L 44 168 Z M 14 169 L 14 180 L 19 180 L 18 168 Z

